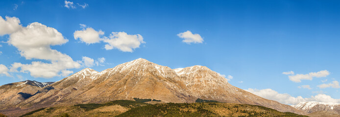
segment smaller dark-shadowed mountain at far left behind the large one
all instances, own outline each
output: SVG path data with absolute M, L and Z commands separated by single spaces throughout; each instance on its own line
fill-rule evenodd
M 23 100 L 33 96 L 41 88 L 53 82 L 38 82 L 25 80 L 0 86 L 0 107 L 6 109 L 12 107 Z

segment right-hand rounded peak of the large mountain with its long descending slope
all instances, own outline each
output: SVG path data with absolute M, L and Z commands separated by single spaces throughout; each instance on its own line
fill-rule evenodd
M 277 101 L 261 98 L 240 88 L 232 86 L 226 78 L 205 66 L 195 65 L 192 67 L 174 69 L 180 80 L 184 81 L 194 97 L 208 100 L 217 100 L 228 103 L 244 103 L 260 105 L 281 112 L 304 114 L 289 105 Z

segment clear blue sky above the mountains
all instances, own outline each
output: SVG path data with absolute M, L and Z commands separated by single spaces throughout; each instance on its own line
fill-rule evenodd
M 23 29 L 33 22 L 39 22 L 62 34 L 67 42 L 58 41 L 43 46 L 73 59 L 74 67 L 62 67 L 60 70 L 75 73 L 86 68 L 84 57 L 94 60 L 89 66 L 97 71 L 144 58 L 170 68 L 207 66 L 222 75 L 233 76 L 229 81 L 232 85 L 269 99 L 280 100 L 282 98 L 275 96 L 282 94 L 296 100 L 301 96 L 307 101 L 323 101 L 318 100 L 316 96 L 330 96 L 331 100 L 334 99 L 333 102 L 340 103 L 338 92 L 340 87 L 334 83 L 339 81 L 340 77 L 338 54 L 340 1 L 70 0 L 68 2 L 73 2 L 68 4 L 69 8 L 66 7 L 65 0 L 1 0 L 0 17 L 5 20 L 5 17 L 18 18 Z M 85 6 L 83 8 L 80 5 Z M 79 24 L 86 26 L 81 27 Z M 0 28 L 3 28 L 1 22 Z M 89 44 L 81 38 L 74 39 L 75 31 L 85 32 L 90 28 L 96 32 L 104 32 L 103 35 L 99 35 L 98 41 Z M 20 32 L 19 28 L 0 36 L 2 41 L 0 64 L 7 67 L 6 73 L 9 74 L 3 72 L 0 75 L 0 85 L 23 79 L 45 82 L 64 78 L 60 71 L 52 78 L 42 78 L 34 77 L 29 70 L 23 72 L 20 72 L 20 68 L 17 72 L 9 70 L 15 62 L 26 65 L 33 61 L 51 63 L 50 59 L 41 59 L 43 58 L 41 56 L 27 59 L 28 56 L 21 55 L 21 52 L 28 53 L 25 50 L 27 48 L 21 45 L 14 46 L 8 42 L 10 36 L 14 37 L 18 31 Z M 190 33 L 186 33 L 184 37 L 178 36 L 187 31 Z M 117 33 L 116 38 L 110 38 L 112 32 Z M 132 40 L 137 40 L 137 43 L 128 45 L 131 51 L 120 49 L 124 45 L 116 45 L 117 41 L 113 41 L 124 40 L 119 32 L 124 32 L 134 37 Z M 193 37 L 194 34 L 198 34 L 198 38 Z M 138 35 L 141 37 L 138 38 Z M 193 41 L 183 42 L 185 39 Z M 106 44 L 111 44 L 113 49 L 105 48 Z M 100 62 L 99 58 L 105 60 Z M 317 73 L 323 70 L 327 73 Z M 293 71 L 294 74 L 283 74 L 288 71 Z M 306 75 L 309 73 L 316 75 Z M 313 79 L 301 82 L 290 80 L 289 76 L 297 74 Z M 325 84 L 323 85 L 325 87 L 320 88 L 321 84 Z M 302 88 L 302 85 L 309 85 L 311 89 Z M 298 88 L 299 86 L 301 88 Z M 263 94 L 264 89 L 272 90 L 266 90 L 271 92 L 270 96 Z M 294 104 L 296 100 L 280 102 Z

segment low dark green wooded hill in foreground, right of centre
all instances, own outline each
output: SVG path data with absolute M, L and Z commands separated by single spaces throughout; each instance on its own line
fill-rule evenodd
M 141 106 L 117 117 L 307 117 L 263 106 L 234 103 L 164 103 Z

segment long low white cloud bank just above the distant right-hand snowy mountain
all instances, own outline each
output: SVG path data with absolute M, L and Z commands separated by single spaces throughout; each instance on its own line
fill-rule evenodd
M 260 96 L 262 98 L 267 98 L 271 100 L 278 101 L 280 103 L 289 104 L 289 105 L 295 105 L 299 102 L 303 101 L 318 101 L 318 102 L 334 102 L 334 103 L 340 103 L 340 99 L 332 98 L 331 96 L 325 95 L 325 94 L 318 94 L 316 96 L 311 96 L 310 98 L 302 98 L 301 96 L 298 97 L 292 97 L 289 94 L 279 94 L 278 92 L 272 90 L 272 89 L 247 89 L 245 90 L 247 92 L 253 93 L 257 96 Z

